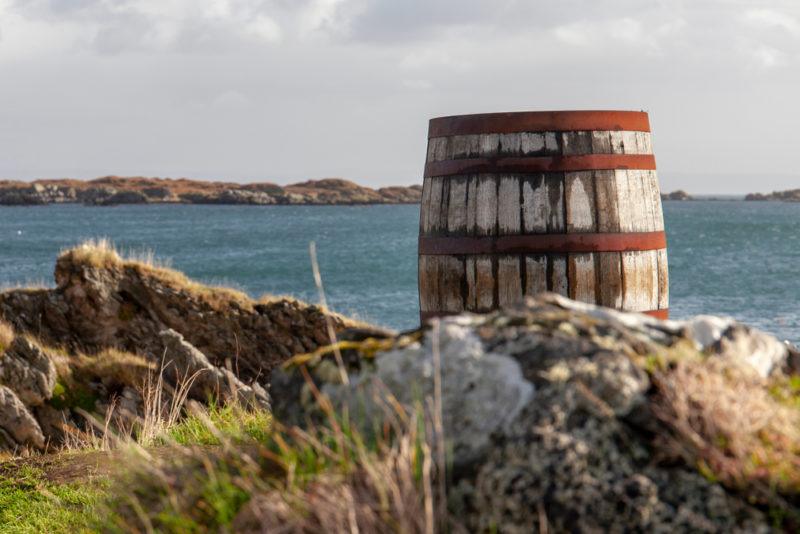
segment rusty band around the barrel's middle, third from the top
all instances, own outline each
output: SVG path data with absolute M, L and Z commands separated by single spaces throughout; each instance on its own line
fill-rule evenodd
M 419 253 L 427 256 L 535 254 L 551 252 L 629 252 L 667 247 L 664 232 L 609 234 L 528 234 L 486 237 L 420 236 Z

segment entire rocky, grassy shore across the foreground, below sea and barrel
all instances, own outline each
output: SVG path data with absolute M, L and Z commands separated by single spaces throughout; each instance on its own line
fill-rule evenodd
M 397 335 L 104 241 L 55 278 L 0 293 L 0 532 L 800 524 L 800 360 L 732 320 L 544 295 Z

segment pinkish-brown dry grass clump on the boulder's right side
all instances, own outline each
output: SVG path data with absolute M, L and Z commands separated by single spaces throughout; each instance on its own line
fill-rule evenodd
M 716 357 L 677 361 L 653 379 L 669 452 L 763 504 L 800 494 L 800 410 L 776 399 L 766 380 Z

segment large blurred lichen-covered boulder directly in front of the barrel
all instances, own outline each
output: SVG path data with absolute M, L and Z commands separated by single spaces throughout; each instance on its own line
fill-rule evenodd
M 776 515 L 798 525 L 794 352 L 771 336 L 551 295 L 396 344 L 350 365 L 346 385 L 327 359 L 312 376 L 365 432 L 391 405 L 375 399 L 430 406 L 440 377 L 450 505 L 469 531 L 769 532 Z M 309 398 L 276 416 L 311 417 Z

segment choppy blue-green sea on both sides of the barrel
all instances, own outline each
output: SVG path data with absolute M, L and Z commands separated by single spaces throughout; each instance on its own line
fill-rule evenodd
M 800 204 L 665 202 L 673 318 L 730 315 L 800 341 Z M 405 329 L 418 322 L 417 206 L 0 207 L 0 286 L 52 285 L 56 255 L 85 239 L 150 250 L 172 267 L 259 296 L 316 301 Z

